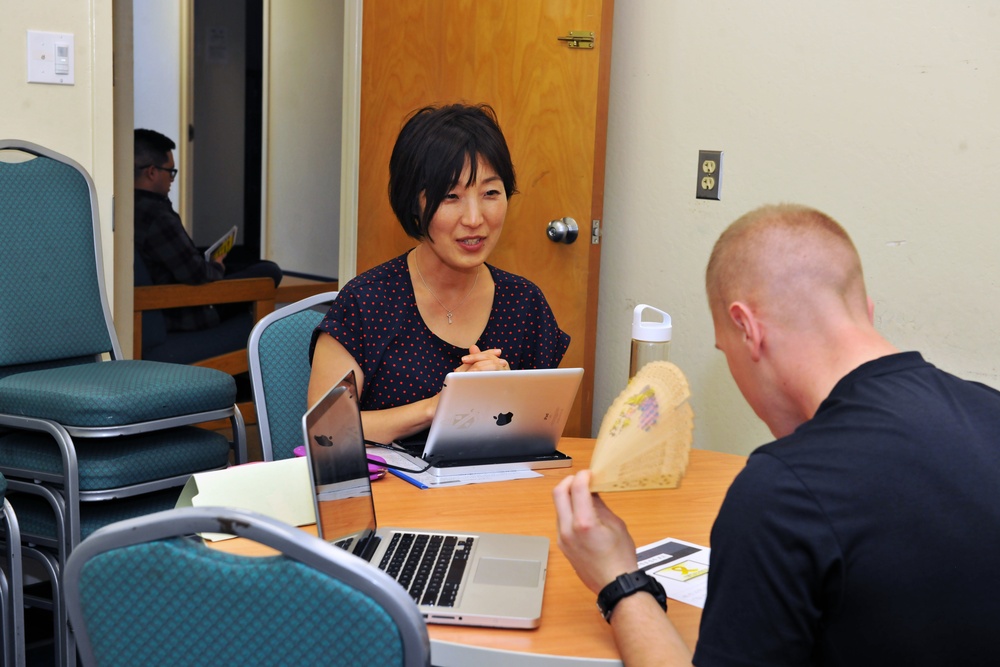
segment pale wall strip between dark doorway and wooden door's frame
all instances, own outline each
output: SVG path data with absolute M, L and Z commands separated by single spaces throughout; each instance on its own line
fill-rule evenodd
M 269 4 L 264 254 L 286 271 L 337 277 L 344 3 Z

